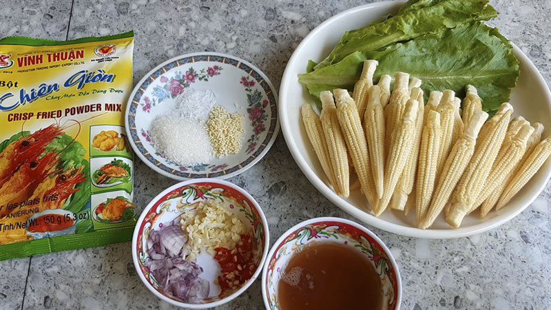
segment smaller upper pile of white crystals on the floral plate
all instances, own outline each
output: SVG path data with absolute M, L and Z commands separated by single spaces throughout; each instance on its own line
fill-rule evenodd
M 216 94 L 212 90 L 188 88 L 176 97 L 176 112 L 183 118 L 207 120 L 216 105 Z

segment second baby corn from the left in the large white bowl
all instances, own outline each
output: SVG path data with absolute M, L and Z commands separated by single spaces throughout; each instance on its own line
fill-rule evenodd
M 333 169 L 333 187 L 337 194 L 348 197 L 350 195 L 349 161 L 346 155 L 346 144 L 337 118 L 337 108 L 333 102 L 333 94 L 329 91 L 320 93 L 322 101 L 322 115 L 320 121 L 327 142 L 329 159 Z

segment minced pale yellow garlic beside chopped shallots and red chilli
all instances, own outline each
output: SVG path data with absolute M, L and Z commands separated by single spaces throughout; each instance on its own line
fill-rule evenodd
M 203 249 L 211 255 L 217 247 L 233 249 L 247 232 L 241 220 L 214 199 L 198 203 L 195 216 L 182 218 L 180 225 L 188 236 L 189 261 L 196 260 Z

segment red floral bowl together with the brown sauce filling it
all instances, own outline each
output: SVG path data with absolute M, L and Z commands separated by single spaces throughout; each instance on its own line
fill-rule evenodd
M 386 245 L 360 224 L 313 218 L 285 232 L 262 272 L 269 310 L 396 310 L 402 282 Z

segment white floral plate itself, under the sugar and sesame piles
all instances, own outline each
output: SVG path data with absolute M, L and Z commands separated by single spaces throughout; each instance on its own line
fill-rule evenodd
M 176 96 L 191 88 L 212 90 L 218 105 L 246 116 L 238 154 L 181 167 L 156 152 L 149 135 L 151 121 L 172 110 Z M 126 132 L 134 152 L 160 174 L 176 180 L 229 178 L 258 163 L 273 145 L 279 131 L 277 101 L 267 76 L 251 63 L 213 52 L 186 54 L 161 63 L 136 85 L 127 103 Z

